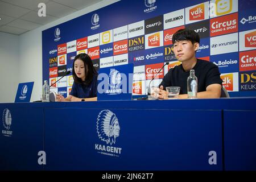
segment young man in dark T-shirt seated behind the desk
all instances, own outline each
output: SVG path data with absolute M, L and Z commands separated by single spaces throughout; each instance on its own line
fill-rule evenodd
M 215 64 L 196 58 L 199 42 L 199 35 L 193 30 L 181 29 L 172 36 L 175 56 L 182 64 L 170 69 L 164 76 L 159 85 L 159 99 L 168 99 L 167 86 L 180 86 L 179 98 L 188 98 L 187 78 L 191 69 L 195 70 L 197 77 L 197 98 L 220 98 L 220 72 Z

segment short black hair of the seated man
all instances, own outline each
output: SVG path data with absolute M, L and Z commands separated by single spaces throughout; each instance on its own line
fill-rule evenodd
M 197 32 L 189 30 L 187 28 L 176 31 L 175 34 L 172 36 L 173 44 L 176 41 L 179 42 L 180 40 L 189 40 L 190 42 L 192 42 L 192 44 L 200 43 L 200 37 Z

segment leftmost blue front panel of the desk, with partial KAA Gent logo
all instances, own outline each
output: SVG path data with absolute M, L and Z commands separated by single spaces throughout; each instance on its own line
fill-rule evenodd
M 0 114 L 11 118 L 9 125 L 0 125 L 0 170 L 42 170 L 38 152 L 43 150 L 43 109 L 1 104 Z

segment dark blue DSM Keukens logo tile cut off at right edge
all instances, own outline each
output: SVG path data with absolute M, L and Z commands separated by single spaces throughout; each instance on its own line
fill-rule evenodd
M 256 71 L 240 72 L 241 91 L 256 91 Z

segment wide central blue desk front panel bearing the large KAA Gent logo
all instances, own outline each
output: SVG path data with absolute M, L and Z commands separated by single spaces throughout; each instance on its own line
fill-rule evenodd
M 102 110 L 45 110 L 45 169 L 222 170 L 221 111 L 109 109 L 119 136 L 107 144 L 97 133 Z

